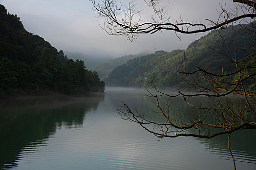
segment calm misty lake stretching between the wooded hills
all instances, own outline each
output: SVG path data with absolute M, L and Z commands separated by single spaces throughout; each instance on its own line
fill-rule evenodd
M 231 170 L 227 136 L 158 138 L 121 119 L 133 102 L 152 119 L 143 89 L 106 88 L 84 98 L 26 97 L 0 103 L 0 170 Z M 173 109 L 187 109 L 177 100 Z M 231 135 L 237 170 L 256 170 L 256 130 Z

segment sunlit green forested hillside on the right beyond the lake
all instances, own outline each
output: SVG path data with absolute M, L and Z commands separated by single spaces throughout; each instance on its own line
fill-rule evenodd
M 110 86 L 142 86 L 153 79 L 154 84 L 160 88 L 188 88 L 187 82 L 192 82 L 192 78 L 179 73 L 180 71 L 190 72 L 200 67 L 218 74 L 222 70 L 232 70 L 232 58 L 237 57 L 239 61 L 247 56 L 250 51 L 244 49 L 251 47 L 252 36 L 242 34 L 242 27 L 255 30 L 249 25 L 214 30 L 192 42 L 186 50 L 157 51 L 129 60 L 113 69 L 103 80 Z M 251 86 L 253 88 L 252 84 Z

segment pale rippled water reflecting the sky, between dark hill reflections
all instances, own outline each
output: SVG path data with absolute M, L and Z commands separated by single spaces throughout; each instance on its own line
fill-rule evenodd
M 58 121 L 54 122 L 53 127 L 55 131 L 43 134 L 41 139 L 28 140 L 29 143 L 22 147 L 16 145 L 10 148 L 10 153 L 16 154 L 18 158 L 13 161 L 13 164 L 4 164 L 2 169 L 226 170 L 233 168 L 226 139 L 198 140 L 192 137 L 178 137 L 164 138 L 158 142 L 157 137 L 135 123 L 122 120 L 116 114 L 117 107 L 112 104 L 111 96 L 114 96 L 112 94 L 114 89 L 112 90 L 111 95 L 108 91 L 105 94 L 105 100 L 100 102 L 94 110 L 82 109 L 80 117 L 83 120 L 79 122 L 83 122 L 83 125 L 70 125 L 75 124 L 73 119 L 77 117 L 72 116 L 76 114 L 68 112 L 67 116 L 64 113 L 65 109 L 62 109 L 61 113 L 65 117 L 62 118 L 62 114 L 58 115 Z M 120 91 L 122 91 L 121 88 Z M 139 90 L 136 91 L 136 93 L 139 92 Z M 125 95 L 116 96 L 126 96 L 129 94 L 129 89 L 125 89 L 123 94 Z M 110 96 L 107 97 L 107 95 Z M 136 99 L 139 101 L 138 95 Z M 121 101 L 121 99 L 115 100 Z M 80 111 L 81 108 L 77 110 Z M 72 109 L 73 107 L 69 111 Z M 56 113 L 52 112 L 52 115 L 54 114 Z M 72 121 L 68 122 L 72 123 L 69 125 L 62 123 L 63 119 L 71 119 Z M 42 125 L 39 129 L 43 131 L 47 126 Z M 40 132 L 36 131 L 36 133 Z M 20 136 L 21 139 L 22 137 Z M 15 140 L 18 139 L 18 137 L 15 138 Z M 233 153 L 237 167 L 246 170 L 256 169 L 255 152 L 234 148 Z M 8 153 L 1 155 L 4 159 L 9 156 Z

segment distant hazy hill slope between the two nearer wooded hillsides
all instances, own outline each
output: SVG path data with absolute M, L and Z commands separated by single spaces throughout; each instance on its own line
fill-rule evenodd
M 145 52 L 144 52 L 145 53 Z M 126 63 L 128 60 L 130 59 L 133 59 L 133 58 L 137 58 L 139 56 L 144 56 L 146 54 L 144 53 L 139 53 L 139 54 L 135 54 L 135 55 L 126 55 L 126 56 L 122 56 L 122 57 L 119 57 L 119 58 L 115 58 L 115 59 L 112 59 L 98 67 L 95 67 L 95 68 L 90 68 L 89 70 L 91 71 L 97 71 L 98 74 L 99 74 L 99 77 L 102 79 L 102 78 L 105 78 L 108 76 L 108 74 L 116 67 L 118 66 L 121 66 L 122 64 Z

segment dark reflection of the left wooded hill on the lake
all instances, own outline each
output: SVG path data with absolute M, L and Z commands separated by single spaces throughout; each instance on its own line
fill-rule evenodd
M 34 98 L 0 103 L 0 169 L 15 167 L 22 148 L 41 145 L 63 125 L 82 127 L 85 113 L 104 96 L 90 98 Z

